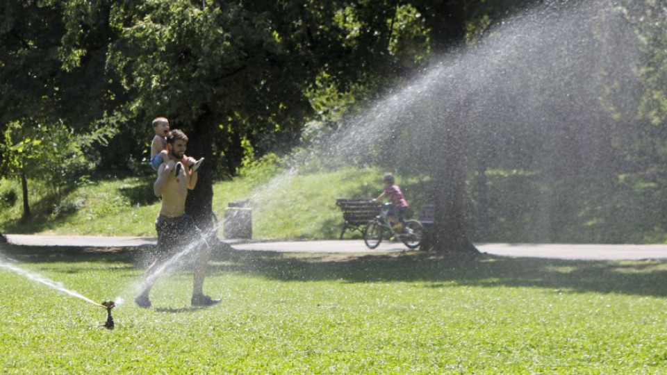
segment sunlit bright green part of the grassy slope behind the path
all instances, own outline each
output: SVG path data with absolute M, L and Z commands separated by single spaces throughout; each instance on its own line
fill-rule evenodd
M 380 176 L 374 169 L 348 169 L 270 181 L 219 182 L 213 187 L 213 210 L 222 221 L 229 201 L 251 199 L 254 238 L 337 238 L 342 215 L 336 198 L 374 197 L 381 189 Z M 19 197 L 12 205 L 0 206 L 0 231 L 153 236 L 160 203 L 152 194 L 152 183 L 150 177 L 97 181 L 66 192 L 60 200 L 31 185 L 35 218 L 21 222 L 19 186 L 3 181 L 0 194 L 15 190 Z

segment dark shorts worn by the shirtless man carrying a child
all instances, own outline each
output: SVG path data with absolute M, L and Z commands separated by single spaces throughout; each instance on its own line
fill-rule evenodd
M 158 215 L 155 230 L 158 232 L 158 259 L 171 258 L 195 242 L 204 242 L 203 233 L 188 214 L 179 217 Z M 199 244 L 202 245 L 206 246 L 206 243 Z

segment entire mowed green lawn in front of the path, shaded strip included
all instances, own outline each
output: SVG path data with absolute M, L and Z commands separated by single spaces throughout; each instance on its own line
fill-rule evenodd
M 4 247 L 106 312 L 0 269 L 6 374 L 661 374 L 667 262 L 216 253 L 133 306 L 143 251 Z

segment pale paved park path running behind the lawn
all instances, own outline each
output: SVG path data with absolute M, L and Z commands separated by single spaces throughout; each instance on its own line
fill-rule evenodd
M 147 237 L 97 237 L 85 235 L 6 235 L 10 244 L 68 247 L 140 247 L 156 243 Z M 368 249 L 363 240 L 263 241 L 223 240 L 236 250 L 293 253 L 383 253 L 405 251 L 397 242 L 382 242 Z M 479 251 L 498 256 L 577 260 L 667 259 L 667 245 L 647 244 L 475 244 Z

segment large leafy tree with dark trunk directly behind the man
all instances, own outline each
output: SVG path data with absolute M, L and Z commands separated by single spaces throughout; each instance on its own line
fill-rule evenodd
M 138 124 L 170 118 L 188 134 L 188 153 L 206 158 L 187 207 L 210 228 L 222 157 L 240 160 L 244 139 L 273 138 L 275 145 L 299 131 L 303 79 L 281 46 L 288 35 L 265 13 L 218 1 L 123 3 L 111 23 L 120 38 L 109 66 L 131 98 L 124 113 Z

